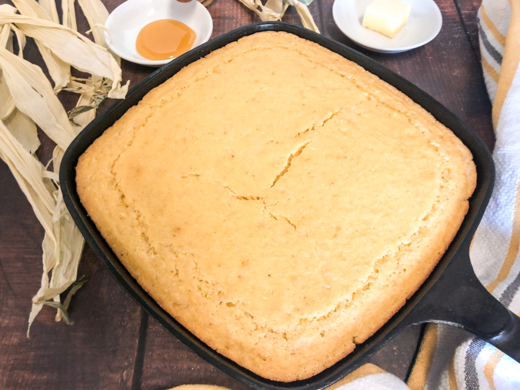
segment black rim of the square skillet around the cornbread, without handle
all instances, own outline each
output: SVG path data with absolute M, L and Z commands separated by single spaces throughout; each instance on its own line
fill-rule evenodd
M 88 217 L 83 208 L 75 187 L 75 166 L 79 156 L 88 148 L 102 132 L 110 127 L 115 120 L 119 119 L 130 107 L 137 104 L 149 90 L 162 84 L 168 78 L 177 73 L 187 64 L 198 60 L 207 55 L 210 51 L 223 47 L 230 42 L 237 41 L 239 38 L 261 31 L 285 31 L 305 38 L 309 41 L 334 51 L 341 56 L 358 63 L 360 66 L 377 75 L 388 84 L 393 85 L 405 95 L 417 102 L 441 123 L 450 128 L 464 145 L 473 154 L 473 159 L 477 167 L 477 188 L 470 198 L 470 209 L 464 221 L 453 239 L 448 250 L 440 259 L 439 263 L 432 271 L 432 274 L 425 280 L 417 292 L 407 301 L 407 303 L 380 328 L 367 341 L 359 344 L 353 353 L 335 363 L 335 365 L 312 376 L 309 379 L 294 382 L 276 382 L 262 378 L 249 370 L 237 365 L 234 361 L 219 355 L 206 344 L 202 343 L 189 331 L 167 314 L 153 299 L 140 287 L 135 279 L 120 263 L 119 259 L 112 252 L 108 244 L 101 237 L 94 223 Z M 491 153 L 484 142 L 471 131 L 467 125 L 442 106 L 438 101 L 427 95 L 423 90 L 408 82 L 403 77 L 391 70 L 383 67 L 378 62 L 349 48 L 341 43 L 335 42 L 330 38 L 324 37 L 310 30 L 297 27 L 293 24 L 284 22 L 258 22 L 245 27 L 230 31 L 215 38 L 188 53 L 180 56 L 164 67 L 145 77 L 136 86 L 128 91 L 126 99 L 112 104 L 107 110 L 103 111 L 94 121 L 87 125 L 83 131 L 71 142 L 65 152 L 60 167 L 60 183 L 63 192 L 63 199 L 69 209 L 74 222 L 79 227 L 85 237 L 86 242 L 93 252 L 107 266 L 112 276 L 127 291 L 134 300 L 143 307 L 149 315 L 155 318 L 161 325 L 172 333 L 179 341 L 188 346 L 193 352 L 201 356 L 204 360 L 224 371 L 232 378 L 251 386 L 258 390 L 319 390 L 337 382 L 343 376 L 359 367 L 377 350 L 382 348 L 388 341 L 395 337 L 400 331 L 414 323 L 423 321 L 410 320 L 407 317 L 414 308 L 421 305 L 427 292 L 435 284 L 443 271 L 449 265 L 451 259 L 459 252 L 469 248 L 468 237 L 473 236 L 474 231 L 482 218 L 485 206 L 491 196 L 493 179 L 495 175 Z M 467 248 L 466 248 L 467 247 Z M 413 317 L 413 316 L 412 316 Z

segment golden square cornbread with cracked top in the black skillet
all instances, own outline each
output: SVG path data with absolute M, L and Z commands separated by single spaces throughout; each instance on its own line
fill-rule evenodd
M 194 335 L 277 381 L 352 352 L 430 274 L 472 155 L 394 87 L 283 32 L 153 89 L 76 167 L 121 262 Z

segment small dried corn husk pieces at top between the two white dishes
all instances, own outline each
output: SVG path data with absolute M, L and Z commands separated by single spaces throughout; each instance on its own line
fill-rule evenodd
M 319 33 L 318 26 L 314 22 L 313 16 L 307 6 L 298 0 L 268 0 L 265 5 L 260 0 L 238 0 L 243 5 L 258 14 L 264 22 L 282 20 L 285 10 L 290 5 L 296 7 L 298 15 L 302 19 L 302 23 L 306 29 Z M 289 3 L 289 4 L 288 4 Z

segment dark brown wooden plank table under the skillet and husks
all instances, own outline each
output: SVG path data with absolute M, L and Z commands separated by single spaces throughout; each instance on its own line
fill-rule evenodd
M 104 1 L 109 11 L 122 3 Z M 3 2 L 6 0 L 0 0 Z M 423 47 L 394 55 L 371 53 L 346 38 L 333 21 L 333 0 L 315 0 L 309 9 L 323 35 L 360 50 L 424 89 L 492 148 L 491 105 L 478 48 L 480 0 L 436 2 L 443 14 L 439 35 Z M 292 8 L 283 20 L 301 25 Z M 212 37 L 259 20 L 236 0 L 215 0 L 208 10 L 214 21 Z M 80 31 L 88 30 L 77 7 L 76 12 Z M 31 41 L 24 54 L 30 61 L 43 63 Z M 132 85 L 153 71 L 126 61 L 122 68 L 123 80 L 131 80 Z M 71 109 L 73 98 L 61 95 L 66 109 Z M 42 146 L 37 155 L 47 162 L 54 144 L 40 135 Z M 43 235 L 31 206 L 0 161 L 0 388 L 159 390 L 206 383 L 246 389 L 150 319 L 88 248 L 79 269 L 87 283 L 74 296 L 69 310 L 75 324 L 56 323 L 55 310 L 44 307 L 27 339 L 31 298 L 40 287 Z M 420 326 L 409 328 L 370 361 L 405 378 L 420 333 Z

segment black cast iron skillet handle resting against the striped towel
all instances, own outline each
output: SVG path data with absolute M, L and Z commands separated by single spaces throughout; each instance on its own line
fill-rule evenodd
M 464 329 L 520 362 L 520 317 L 480 283 L 467 246 L 453 256 L 409 316 L 414 323 L 441 322 Z

